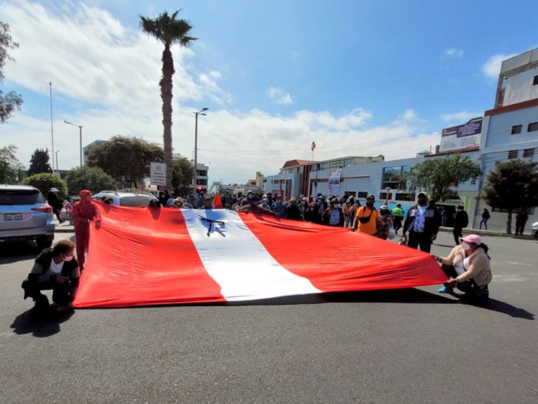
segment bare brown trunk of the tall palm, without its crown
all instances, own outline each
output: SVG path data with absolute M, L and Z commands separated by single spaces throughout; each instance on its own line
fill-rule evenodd
M 160 98 L 163 99 L 163 144 L 165 149 L 166 185 L 172 187 L 172 76 L 174 59 L 170 45 L 163 50 L 163 78 L 160 79 Z

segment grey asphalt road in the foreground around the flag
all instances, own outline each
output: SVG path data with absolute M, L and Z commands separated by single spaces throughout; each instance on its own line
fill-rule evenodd
M 536 403 L 538 243 L 484 240 L 488 308 L 425 287 L 46 322 L 29 319 L 20 289 L 38 251 L 0 245 L 0 401 Z

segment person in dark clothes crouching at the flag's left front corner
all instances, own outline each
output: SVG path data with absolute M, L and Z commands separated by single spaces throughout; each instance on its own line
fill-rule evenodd
M 25 299 L 31 297 L 35 305 L 32 315 L 43 315 L 49 309 L 48 298 L 42 290 L 53 290 L 53 302 L 57 310 L 73 307 L 81 272 L 74 259 L 75 245 L 70 240 L 60 240 L 53 247 L 46 248 L 34 261 L 34 266 L 26 280 L 22 282 Z

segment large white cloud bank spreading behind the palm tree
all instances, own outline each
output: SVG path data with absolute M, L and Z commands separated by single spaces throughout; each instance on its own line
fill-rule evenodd
M 83 145 L 116 134 L 162 144 L 161 45 L 123 26 L 106 11 L 65 4 L 57 8 L 71 4 L 73 10 L 45 9 L 25 0 L 2 6 L 3 18 L 20 42 L 20 49 L 13 51 L 17 63 L 6 66 L 6 77 L 45 95 L 46 100 L 50 80 L 55 100 L 69 97 L 73 103 L 92 105 L 73 108 L 70 116 L 54 111 L 60 168 L 78 166 L 78 129 L 64 124 L 64 119 L 83 125 Z M 439 143 L 438 133 L 421 130 L 414 110 L 403 111 L 391 122 L 373 124 L 372 113 L 363 108 L 340 114 L 298 110 L 286 117 L 230 109 L 233 97 L 219 85 L 223 73 L 212 66 L 194 67 L 191 49 L 174 47 L 173 52 L 175 152 L 192 158 L 192 112 L 207 106 L 205 101 L 219 106 L 198 120 L 198 161 L 211 162 L 210 180 L 244 182 L 256 171 L 275 174 L 284 161 L 310 159 L 312 140 L 317 143 L 316 159 L 378 154 L 399 159 Z M 283 89 L 274 88 L 269 95 L 285 105 L 293 102 Z M 39 109 L 48 111 L 48 101 L 44 106 L 23 104 L 22 111 L 1 127 L 0 144 L 18 145 L 18 159 L 27 166 L 37 147 L 50 149 L 50 120 L 47 114 L 35 117 L 34 110 Z

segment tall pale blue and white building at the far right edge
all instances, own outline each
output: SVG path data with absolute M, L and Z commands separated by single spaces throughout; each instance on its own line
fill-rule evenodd
M 480 145 L 484 180 L 496 161 L 526 159 L 538 161 L 538 48 L 502 62 L 495 96 L 495 108 L 484 113 Z M 480 212 L 488 208 L 488 229 L 506 229 L 506 211 L 491 208 L 480 201 L 476 206 L 474 226 Z M 535 208 L 527 210 L 527 229 L 538 220 Z M 528 230 L 527 230 L 528 232 Z

